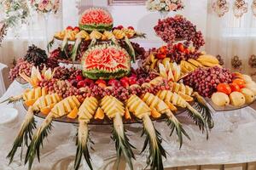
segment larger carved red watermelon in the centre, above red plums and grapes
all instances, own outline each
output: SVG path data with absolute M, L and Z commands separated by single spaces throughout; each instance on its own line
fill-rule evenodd
M 131 71 L 131 59 L 124 48 L 102 44 L 84 52 L 82 66 L 84 76 L 90 79 L 119 78 Z

